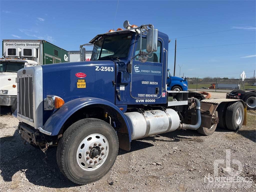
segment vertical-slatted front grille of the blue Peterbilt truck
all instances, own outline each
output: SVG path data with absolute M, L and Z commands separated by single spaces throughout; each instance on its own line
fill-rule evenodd
M 33 122 L 33 76 L 31 74 L 19 76 L 17 85 L 18 115 Z

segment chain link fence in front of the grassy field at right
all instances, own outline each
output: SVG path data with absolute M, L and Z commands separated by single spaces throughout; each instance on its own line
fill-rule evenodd
M 190 90 L 255 90 L 255 78 L 228 79 L 228 78 L 187 78 L 188 89 Z M 254 84 L 254 85 L 253 85 Z

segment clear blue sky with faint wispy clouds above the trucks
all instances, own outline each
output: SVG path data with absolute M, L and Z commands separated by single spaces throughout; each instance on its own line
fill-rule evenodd
M 79 50 L 97 34 L 123 28 L 124 20 L 151 23 L 172 39 L 168 67 L 173 71 L 175 38 L 252 27 L 178 38 L 176 58 L 176 75 L 180 65 L 188 77 L 238 78 L 243 70 L 252 77 L 255 44 L 181 48 L 256 42 L 255 6 L 255 1 L 0 1 L 0 38 L 44 39 Z

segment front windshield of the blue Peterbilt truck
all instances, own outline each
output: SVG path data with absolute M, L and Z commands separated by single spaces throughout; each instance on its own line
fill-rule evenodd
M 131 39 L 131 34 L 101 38 L 94 44 L 91 60 L 127 57 Z

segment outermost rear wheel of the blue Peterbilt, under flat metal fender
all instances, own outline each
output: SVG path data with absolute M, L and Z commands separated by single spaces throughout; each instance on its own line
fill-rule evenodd
M 229 103 L 225 117 L 226 126 L 229 130 L 239 130 L 242 127 L 244 118 L 243 104 L 240 101 Z

